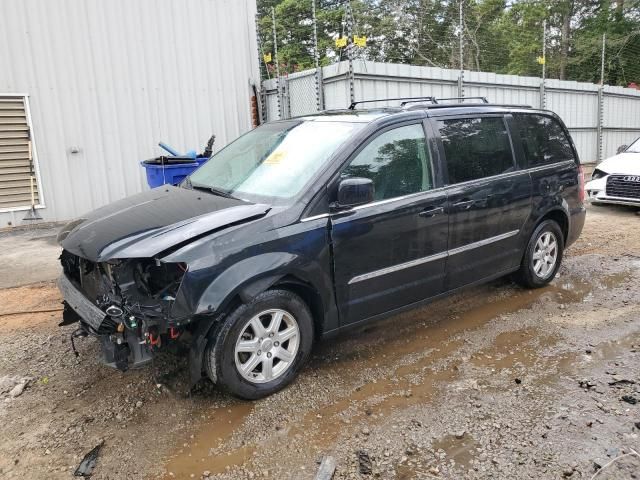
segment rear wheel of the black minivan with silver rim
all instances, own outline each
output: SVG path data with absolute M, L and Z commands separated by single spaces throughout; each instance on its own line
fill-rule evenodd
M 540 288 L 556 276 L 564 253 L 564 236 L 557 222 L 545 220 L 533 231 L 516 281 L 527 288 Z

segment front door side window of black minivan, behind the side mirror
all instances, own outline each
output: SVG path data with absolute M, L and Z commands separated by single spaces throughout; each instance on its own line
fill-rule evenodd
M 378 135 L 341 176 L 373 180 L 376 200 L 431 189 L 431 162 L 422 125 L 398 127 Z

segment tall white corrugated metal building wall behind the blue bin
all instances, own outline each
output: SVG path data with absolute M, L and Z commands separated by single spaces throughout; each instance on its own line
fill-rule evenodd
M 2 0 L 0 94 L 25 93 L 46 208 L 146 187 L 140 160 L 251 128 L 255 0 Z M 77 153 L 74 153 L 77 152 Z M 0 227 L 25 212 L 0 212 Z

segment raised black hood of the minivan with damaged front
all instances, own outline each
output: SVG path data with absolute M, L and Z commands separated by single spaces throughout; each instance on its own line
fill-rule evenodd
M 94 262 L 153 257 L 207 233 L 262 217 L 269 208 L 165 185 L 69 223 L 58 242 L 65 250 Z

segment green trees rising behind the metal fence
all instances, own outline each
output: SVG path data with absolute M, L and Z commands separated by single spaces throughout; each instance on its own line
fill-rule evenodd
M 459 68 L 460 1 L 465 69 L 541 76 L 546 21 L 548 77 L 599 82 L 606 34 L 605 82 L 640 83 L 640 0 L 351 0 L 353 33 L 368 38 L 355 55 Z M 348 3 L 316 0 L 322 65 L 346 58 L 335 39 L 347 34 Z M 313 67 L 311 0 L 258 0 L 264 52 L 273 52 L 271 7 L 281 73 Z

